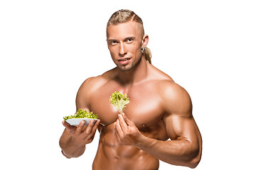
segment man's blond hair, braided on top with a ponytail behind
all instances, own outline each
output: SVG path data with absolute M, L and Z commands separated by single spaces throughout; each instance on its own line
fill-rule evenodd
M 142 24 L 142 35 L 144 35 L 144 28 L 143 28 L 143 22 L 142 18 L 137 16 L 134 11 L 130 11 L 128 9 L 121 9 L 119 11 L 116 11 L 112 14 L 109 21 L 107 22 L 107 27 L 110 25 L 117 25 L 118 23 L 126 23 L 128 21 L 135 21 L 137 23 Z M 145 53 L 146 61 L 151 64 L 151 51 L 149 50 L 149 47 L 145 47 L 142 52 Z

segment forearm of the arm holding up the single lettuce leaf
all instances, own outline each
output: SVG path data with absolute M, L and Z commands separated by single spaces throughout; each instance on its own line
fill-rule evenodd
M 186 140 L 161 141 L 143 136 L 136 147 L 169 164 L 194 168 L 199 162 L 198 149 Z

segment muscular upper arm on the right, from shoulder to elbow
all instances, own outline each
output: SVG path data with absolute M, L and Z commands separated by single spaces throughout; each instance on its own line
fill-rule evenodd
M 201 135 L 192 115 L 192 103 L 188 92 L 174 85 L 165 91 L 164 123 L 171 140 L 185 140 L 193 147 L 201 145 Z

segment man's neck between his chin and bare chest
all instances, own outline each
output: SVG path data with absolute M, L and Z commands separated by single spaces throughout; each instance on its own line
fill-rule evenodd
M 147 78 L 147 64 L 148 63 L 143 55 L 142 60 L 132 70 L 121 71 L 117 68 L 117 79 L 119 79 L 120 83 L 124 86 L 139 84 Z

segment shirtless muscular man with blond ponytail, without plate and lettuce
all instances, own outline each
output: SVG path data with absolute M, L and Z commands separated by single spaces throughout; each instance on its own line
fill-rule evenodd
M 82 121 L 78 127 L 63 122 L 60 147 L 65 157 L 80 157 L 98 129 L 94 170 L 159 169 L 159 159 L 191 168 L 198 165 L 202 141 L 191 98 L 150 64 L 148 42 L 139 16 L 129 10 L 113 13 L 107 23 L 107 45 L 117 67 L 85 80 L 76 98 L 77 109 L 93 111 L 100 120 L 87 126 Z M 114 91 L 129 97 L 122 114 L 110 104 Z

